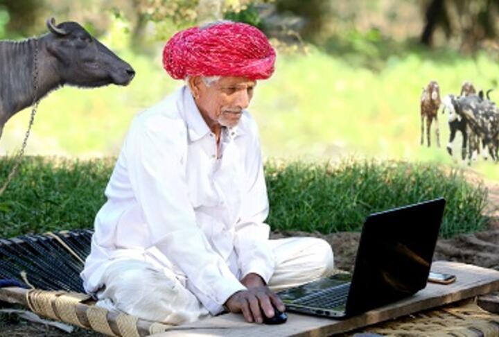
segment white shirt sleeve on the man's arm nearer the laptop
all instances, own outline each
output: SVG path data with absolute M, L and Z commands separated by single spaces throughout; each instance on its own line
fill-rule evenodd
M 268 216 L 269 205 L 256 124 L 252 133 L 245 155 L 247 184 L 240 218 L 236 223 L 234 245 L 242 276 L 256 273 L 268 283 L 274 273 L 274 254 L 268 240 L 270 227 L 263 223 Z

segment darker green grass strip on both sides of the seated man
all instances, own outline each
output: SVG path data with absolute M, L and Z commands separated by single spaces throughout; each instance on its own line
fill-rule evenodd
M 1 159 L 0 177 L 11 166 L 12 159 Z M 113 166 L 114 159 L 26 157 L 0 198 L 0 237 L 92 227 Z M 431 164 L 271 161 L 265 173 L 268 223 L 274 230 L 360 230 L 370 212 L 438 196 L 447 199 L 443 236 L 474 232 L 487 224 L 487 190 L 467 182 L 460 171 Z

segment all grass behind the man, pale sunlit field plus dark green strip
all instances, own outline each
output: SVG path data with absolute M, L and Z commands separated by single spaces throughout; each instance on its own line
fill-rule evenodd
M 132 64 L 137 76 L 128 87 L 82 90 L 66 87 L 40 104 L 30 155 L 112 157 L 119 153 L 134 114 L 180 87 L 161 67 L 162 43 L 153 53 L 127 46 L 126 23 L 114 21 L 100 40 Z M 466 164 L 446 154 L 446 115 L 439 114 L 441 148 L 420 146 L 421 88 L 437 80 L 441 94 L 458 94 L 464 80 L 496 89 L 499 64 L 491 53 L 461 55 L 429 50 L 378 35 L 350 33 L 307 45 L 305 52 L 279 50 L 276 71 L 260 81 L 250 111 L 259 124 L 268 162 L 269 223 L 275 229 L 331 232 L 358 230 L 370 211 L 445 196 L 442 234 L 484 227 L 486 191 L 462 175 Z M 3 130 L 0 153 L 21 144 L 29 111 Z M 459 139 L 455 153 L 459 151 Z M 335 162 L 339 165 L 319 164 Z M 372 162 L 376 158 L 385 162 Z M 315 162 L 315 164 L 304 164 Z M 1 176 L 6 176 L 6 160 Z M 499 180 L 498 166 L 473 164 L 485 178 Z M 0 199 L 1 236 L 91 227 L 103 204 L 110 160 L 74 162 L 30 158 Z

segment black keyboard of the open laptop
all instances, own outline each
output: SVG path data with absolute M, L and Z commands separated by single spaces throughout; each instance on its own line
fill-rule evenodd
M 350 282 L 298 298 L 292 301 L 292 304 L 324 309 L 335 308 L 347 302 L 349 290 Z

